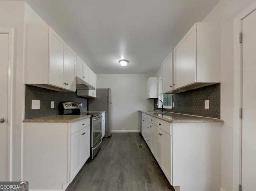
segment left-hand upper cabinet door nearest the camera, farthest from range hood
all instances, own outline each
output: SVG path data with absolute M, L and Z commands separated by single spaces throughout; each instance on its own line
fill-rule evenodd
M 65 88 L 63 83 L 65 42 L 52 29 L 49 31 L 49 45 L 49 84 Z

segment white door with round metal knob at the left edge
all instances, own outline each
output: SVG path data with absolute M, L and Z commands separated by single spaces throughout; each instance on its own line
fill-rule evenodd
M 9 34 L 0 34 L 0 181 L 7 181 L 7 109 L 8 109 Z

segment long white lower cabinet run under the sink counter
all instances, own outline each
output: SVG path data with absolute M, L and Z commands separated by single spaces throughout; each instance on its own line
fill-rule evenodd
M 222 123 L 153 118 L 142 113 L 142 136 L 170 184 L 180 191 L 219 190 Z

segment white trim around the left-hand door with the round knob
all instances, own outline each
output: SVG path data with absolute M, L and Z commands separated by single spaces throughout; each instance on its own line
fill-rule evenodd
M 0 28 L 0 34 L 9 34 L 8 53 L 8 100 L 7 100 L 7 181 L 12 177 L 12 102 L 13 102 L 13 47 L 14 29 Z

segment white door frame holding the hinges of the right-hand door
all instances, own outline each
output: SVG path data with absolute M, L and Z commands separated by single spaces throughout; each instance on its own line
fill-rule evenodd
M 234 113 L 233 113 L 233 191 L 238 191 L 242 181 L 242 44 L 239 35 L 242 32 L 242 20 L 256 10 L 253 3 L 234 19 Z

